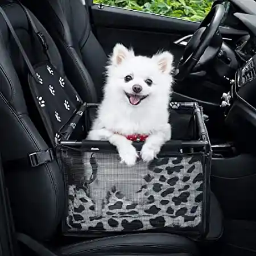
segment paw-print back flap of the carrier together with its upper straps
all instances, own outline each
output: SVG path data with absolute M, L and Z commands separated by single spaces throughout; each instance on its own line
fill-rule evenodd
M 18 2 L 19 3 L 19 2 Z M 7 26 L 22 54 L 28 67 L 28 84 L 30 86 L 32 97 L 36 102 L 38 112 L 46 126 L 47 133 L 53 145 L 55 145 L 60 137 L 61 129 L 68 123 L 69 119 L 76 112 L 82 101 L 66 77 L 60 75 L 60 72 L 51 64 L 48 52 L 48 45 L 42 32 L 38 31 L 35 23 L 26 9 L 21 3 L 19 5 L 24 10 L 31 29 L 35 35 L 35 43 L 40 44 L 46 60 L 38 64 L 32 65 L 13 26 L 5 11 L 0 7 L 0 13 L 6 21 Z M 40 52 L 40 53 L 42 53 Z

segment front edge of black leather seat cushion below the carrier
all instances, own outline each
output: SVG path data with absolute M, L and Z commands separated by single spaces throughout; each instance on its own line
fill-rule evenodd
M 79 245 L 65 246 L 59 251 L 63 255 L 197 255 L 195 243 L 187 238 L 171 234 L 131 234 L 101 238 Z

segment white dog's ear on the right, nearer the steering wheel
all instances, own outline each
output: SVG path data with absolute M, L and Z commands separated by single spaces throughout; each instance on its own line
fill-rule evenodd
M 164 51 L 162 53 L 157 53 L 152 56 L 152 59 L 156 61 L 159 66 L 160 71 L 165 74 L 170 74 L 173 67 L 172 63 L 174 62 L 174 55 L 168 51 Z

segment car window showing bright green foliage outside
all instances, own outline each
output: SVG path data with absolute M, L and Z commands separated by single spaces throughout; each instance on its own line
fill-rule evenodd
M 209 13 L 214 0 L 93 0 L 93 2 L 200 22 Z

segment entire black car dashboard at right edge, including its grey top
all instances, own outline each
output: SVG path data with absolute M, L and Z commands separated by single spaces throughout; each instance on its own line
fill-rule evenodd
M 243 151 L 255 151 L 256 143 L 256 25 L 255 15 L 233 14 L 246 27 L 248 34 L 232 46 L 240 63 L 235 75 L 228 78 L 230 90 L 222 94 L 225 123 Z

